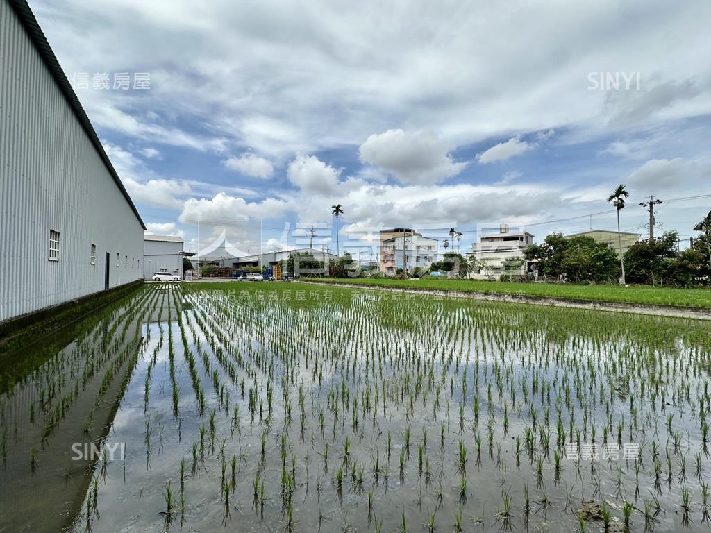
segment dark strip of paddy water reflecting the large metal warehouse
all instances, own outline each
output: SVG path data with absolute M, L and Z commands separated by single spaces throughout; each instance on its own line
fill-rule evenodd
M 83 452 L 108 434 L 140 351 L 141 313 L 155 303 L 133 294 L 4 356 L 4 365 L 18 357 L 41 364 L 0 397 L 0 531 L 56 532 L 74 521 L 96 463 Z M 78 335 L 68 338 L 69 330 Z

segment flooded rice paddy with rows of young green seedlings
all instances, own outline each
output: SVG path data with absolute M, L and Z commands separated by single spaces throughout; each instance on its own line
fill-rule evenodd
M 0 398 L 2 532 L 710 527 L 699 321 L 155 284 L 43 349 Z

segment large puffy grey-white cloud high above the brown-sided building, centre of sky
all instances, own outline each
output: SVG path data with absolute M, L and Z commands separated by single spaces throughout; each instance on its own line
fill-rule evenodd
M 358 152 L 361 161 L 383 168 L 402 183 L 435 183 L 455 176 L 466 166 L 451 160 L 451 149 L 429 131 L 389 129 L 369 136 Z

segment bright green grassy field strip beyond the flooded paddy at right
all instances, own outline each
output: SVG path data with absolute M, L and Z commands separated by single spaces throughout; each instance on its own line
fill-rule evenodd
M 306 280 L 304 280 L 306 281 Z M 643 303 L 658 306 L 711 308 L 710 289 L 678 289 L 675 287 L 575 285 L 548 283 L 512 283 L 507 281 L 475 281 L 471 279 L 368 279 L 323 278 L 314 281 L 348 283 L 364 286 L 461 291 L 511 296 L 534 296 L 569 300 Z

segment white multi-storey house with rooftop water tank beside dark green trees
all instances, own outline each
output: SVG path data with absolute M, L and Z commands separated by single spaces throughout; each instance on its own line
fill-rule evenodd
M 523 259 L 523 250 L 533 244 L 533 234 L 521 230 L 511 232 L 508 224 L 502 224 L 498 232 L 482 233 L 479 242 L 471 244 L 471 253 L 467 259 L 474 257 L 479 262 L 479 273 L 471 274 L 475 279 L 500 278 L 501 274 L 523 276 L 525 263 L 512 269 L 508 262 L 511 259 Z

